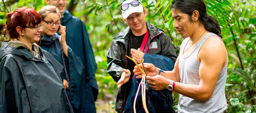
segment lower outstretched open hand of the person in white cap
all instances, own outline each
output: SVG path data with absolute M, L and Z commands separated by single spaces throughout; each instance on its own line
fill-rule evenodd
M 120 88 L 123 84 L 129 81 L 130 74 L 130 70 L 123 69 L 123 72 L 121 73 L 121 78 L 117 82 L 117 88 Z

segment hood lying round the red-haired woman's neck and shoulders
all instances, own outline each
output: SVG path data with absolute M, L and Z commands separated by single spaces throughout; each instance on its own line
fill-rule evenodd
M 19 57 L 26 58 L 29 60 L 41 61 L 41 59 L 38 59 L 37 57 L 33 57 L 33 55 L 26 48 L 20 47 L 19 49 L 16 49 L 16 48 L 12 47 L 11 45 L 7 44 L 7 42 L 9 42 L 9 41 L 2 41 L 2 43 L 1 43 L 2 46 L 0 48 L 0 60 L 2 58 L 4 58 L 4 56 L 7 54 L 14 54 L 14 55 L 17 55 Z M 41 50 L 40 47 L 39 47 L 39 50 Z

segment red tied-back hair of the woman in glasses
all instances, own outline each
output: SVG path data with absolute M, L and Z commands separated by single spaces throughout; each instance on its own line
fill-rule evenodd
M 27 24 L 29 26 L 36 26 L 42 22 L 40 14 L 32 8 L 17 8 L 14 12 L 7 14 L 7 31 L 9 32 L 10 38 L 18 38 L 19 34 L 16 30 L 17 26 L 20 26 L 23 30 Z

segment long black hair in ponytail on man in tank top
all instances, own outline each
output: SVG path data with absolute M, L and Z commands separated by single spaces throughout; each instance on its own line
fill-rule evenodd
M 191 22 L 191 15 L 193 14 L 193 11 L 198 11 L 198 19 L 204 25 L 204 28 L 207 31 L 213 32 L 214 34 L 217 34 L 219 37 L 222 38 L 222 36 L 220 35 L 221 31 L 217 19 L 209 16 L 206 13 L 206 5 L 204 4 L 203 0 L 173 0 L 170 8 L 188 14 L 188 18 Z

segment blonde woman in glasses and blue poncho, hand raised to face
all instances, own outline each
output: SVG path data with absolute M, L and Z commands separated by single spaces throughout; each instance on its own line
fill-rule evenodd
M 60 12 L 55 6 L 44 6 L 39 11 L 42 17 L 43 32 L 38 42 L 42 49 L 49 52 L 60 64 L 64 66 L 66 73 L 63 80 L 69 101 L 74 112 L 79 110 L 82 100 L 82 77 L 84 66 L 82 61 L 66 44 L 65 26 L 61 25 Z M 60 28 L 59 33 L 57 30 Z

